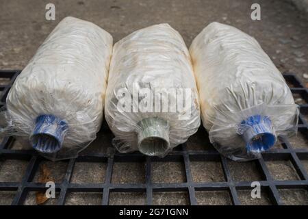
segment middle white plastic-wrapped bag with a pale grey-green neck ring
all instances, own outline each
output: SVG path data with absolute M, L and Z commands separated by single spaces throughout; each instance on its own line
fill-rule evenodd
M 105 117 L 121 153 L 164 157 L 200 125 L 198 94 L 183 38 L 168 24 L 114 45 Z

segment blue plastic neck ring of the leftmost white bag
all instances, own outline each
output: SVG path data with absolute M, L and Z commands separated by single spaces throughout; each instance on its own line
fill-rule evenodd
M 67 129 L 66 122 L 56 116 L 38 116 L 34 131 L 30 136 L 32 147 L 41 153 L 59 151 L 62 148 Z

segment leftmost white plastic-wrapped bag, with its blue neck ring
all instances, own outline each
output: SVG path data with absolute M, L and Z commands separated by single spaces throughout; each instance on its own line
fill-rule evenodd
M 64 18 L 16 78 L 1 112 L 1 135 L 29 138 L 49 159 L 77 157 L 103 118 L 112 36 Z

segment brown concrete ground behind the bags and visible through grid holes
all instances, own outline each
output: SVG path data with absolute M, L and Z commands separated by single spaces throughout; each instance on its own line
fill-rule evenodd
M 44 18 L 45 5 L 55 4 L 55 21 Z M 261 21 L 251 20 L 251 4 L 261 5 Z M 157 23 L 169 23 L 177 29 L 189 46 L 193 38 L 211 21 L 227 23 L 242 29 L 255 37 L 261 47 L 270 55 L 274 64 L 281 72 L 289 71 L 296 74 L 308 86 L 308 16 L 296 9 L 290 1 L 272 0 L 216 0 L 216 1 L 0 1 L 0 69 L 22 69 L 38 49 L 44 38 L 65 16 L 75 16 L 92 21 L 114 37 L 114 42 L 127 36 L 132 31 Z M 5 82 L 3 82 L 5 83 Z M 208 149 L 211 146 L 203 142 L 203 133 L 197 133 L 188 141 L 190 149 Z M 111 140 L 111 136 L 102 137 Z M 101 140 L 100 138 L 98 140 Z M 104 139 L 106 140 L 106 139 Z M 292 145 L 308 148 L 307 138 L 299 135 L 292 139 Z M 14 147 L 20 148 L 18 142 Z M 87 151 L 100 151 L 95 143 Z M 5 160 L 0 162 L 0 182 L 20 181 L 27 162 Z M 304 162 L 308 171 L 308 162 Z M 61 181 L 66 162 L 53 164 L 47 162 L 53 178 Z M 254 162 L 228 162 L 231 175 L 236 181 L 260 180 L 261 175 Z M 298 179 L 294 167 L 289 161 L 267 162 L 266 164 L 274 176 L 279 180 Z M 179 162 L 157 163 L 153 165 L 154 182 L 182 182 L 185 181 L 185 169 Z M 218 162 L 192 162 L 192 178 L 196 182 L 224 181 L 222 169 Z M 208 171 L 204 171 L 204 170 Z M 99 174 L 97 173 L 99 172 Z M 103 182 L 105 164 L 78 164 L 75 166 L 72 181 L 74 183 Z M 12 174 L 14 173 L 14 174 Z M 129 173 L 129 174 L 128 174 Z M 34 177 L 34 181 L 38 176 Z M 116 164 L 112 181 L 116 183 L 144 182 L 144 164 Z M 308 204 L 307 190 L 279 190 L 283 201 L 288 204 Z M 270 204 L 268 194 L 262 191 L 261 199 L 252 199 L 250 191 L 238 191 L 242 204 L 266 205 Z M 0 205 L 10 204 L 14 192 L 0 191 Z M 228 192 L 198 191 L 196 198 L 199 204 L 229 205 L 231 200 Z M 99 192 L 72 192 L 66 198 L 66 204 L 97 204 L 101 201 Z M 25 204 L 35 204 L 35 192 L 29 192 Z M 47 201 L 54 204 L 55 200 Z M 112 193 L 110 204 L 144 204 L 143 193 Z M 187 204 L 186 192 L 155 192 L 154 204 Z

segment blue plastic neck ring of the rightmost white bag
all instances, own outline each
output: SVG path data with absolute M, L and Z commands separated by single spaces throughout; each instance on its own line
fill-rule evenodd
M 272 127 L 272 122 L 268 116 L 249 116 L 241 123 L 245 127 L 242 138 L 246 142 L 248 153 L 260 153 L 272 147 L 277 138 Z

